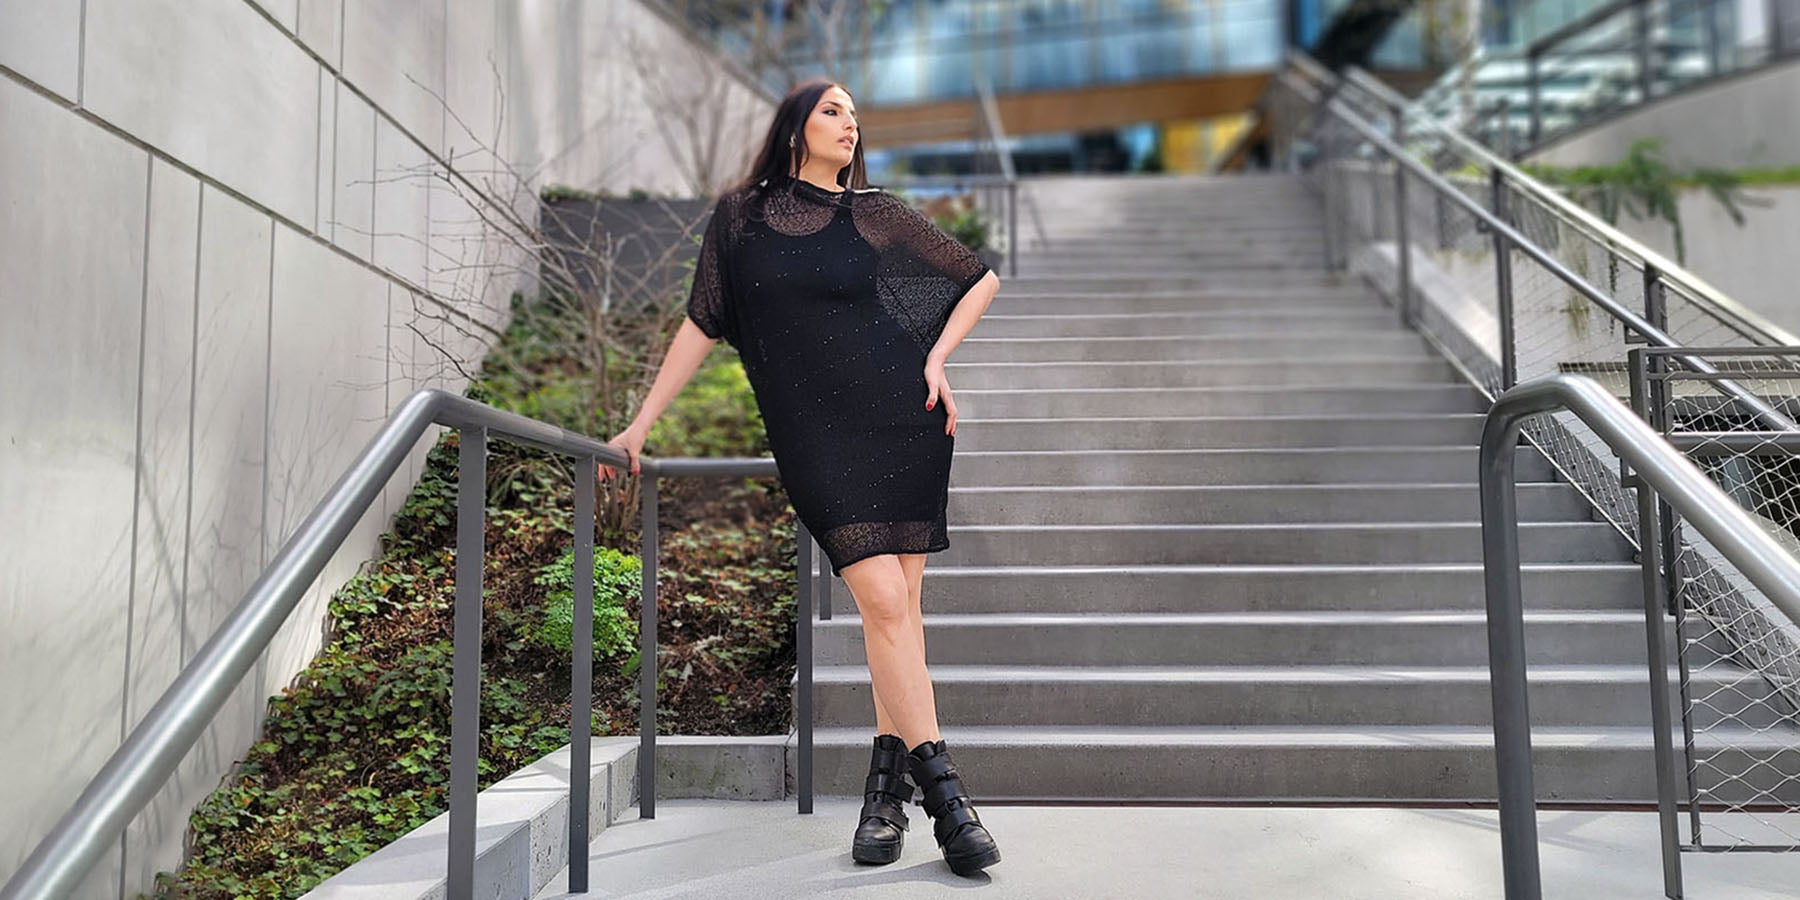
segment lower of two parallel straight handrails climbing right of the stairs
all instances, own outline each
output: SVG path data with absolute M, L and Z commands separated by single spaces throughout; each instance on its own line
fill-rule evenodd
M 1514 229 L 1510 223 L 1503 221 L 1499 216 L 1496 216 L 1494 212 L 1490 212 L 1489 209 L 1485 209 L 1481 203 L 1471 200 L 1467 194 L 1463 194 L 1454 185 L 1451 185 L 1449 182 L 1445 182 L 1442 175 L 1431 171 L 1427 166 L 1424 166 L 1422 162 L 1415 160 L 1393 139 L 1390 139 L 1388 135 L 1382 135 L 1381 130 L 1377 130 L 1375 126 L 1364 122 L 1354 112 L 1346 110 L 1345 103 L 1339 97 L 1336 97 L 1336 95 L 1323 97 L 1319 90 L 1314 90 L 1310 85 L 1305 85 L 1305 83 L 1298 81 L 1292 76 L 1292 72 L 1282 72 L 1280 77 L 1282 77 L 1283 83 L 1289 85 L 1289 88 L 1292 88 L 1303 99 L 1309 99 L 1309 101 L 1316 103 L 1321 110 L 1330 112 L 1341 122 L 1345 122 L 1354 131 L 1357 131 L 1372 146 L 1375 146 L 1384 155 L 1388 155 L 1390 158 L 1393 158 L 1395 166 L 1409 171 L 1418 180 L 1422 180 L 1427 187 L 1431 187 L 1435 193 L 1438 193 L 1440 196 L 1444 196 L 1451 203 L 1462 207 L 1471 216 L 1474 216 L 1476 220 L 1480 220 L 1490 232 L 1494 232 L 1498 238 L 1503 238 L 1514 250 L 1528 256 L 1532 261 L 1535 261 L 1546 272 L 1550 272 L 1552 275 L 1555 275 L 1557 279 L 1561 279 L 1564 284 L 1568 284 L 1570 288 L 1573 288 L 1577 293 L 1580 293 L 1582 297 L 1586 297 L 1588 301 L 1591 301 L 1595 306 L 1606 310 L 1613 319 L 1618 319 L 1620 322 L 1624 322 L 1633 331 L 1643 335 L 1645 342 L 1649 342 L 1651 346 L 1658 346 L 1658 347 L 1678 347 L 1678 349 L 1681 347 L 1681 344 L 1676 342 L 1669 333 L 1665 333 L 1663 329 L 1656 328 L 1647 319 L 1643 319 L 1642 315 L 1638 315 L 1634 310 L 1631 310 L 1631 308 L 1624 306 L 1622 302 L 1618 302 L 1616 299 L 1613 299 L 1609 293 L 1606 293 L 1600 288 L 1595 288 L 1593 284 L 1589 284 L 1588 279 L 1584 279 L 1579 274 L 1575 274 L 1573 270 L 1570 270 L 1566 265 L 1562 265 L 1562 261 L 1559 261 L 1557 257 L 1550 256 L 1550 252 L 1546 252 L 1544 248 L 1537 247 L 1537 243 L 1534 243 L 1523 232 L 1519 232 L 1517 229 Z M 1404 209 L 1404 207 L 1400 207 L 1400 209 Z M 1400 243 L 1404 247 L 1406 241 L 1402 239 Z M 1402 252 L 1400 254 L 1402 265 L 1404 265 L 1406 259 L 1408 259 L 1408 254 Z M 1402 270 L 1402 275 L 1404 275 L 1404 270 Z M 1408 286 L 1402 281 L 1402 304 L 1400 304 L 1402 306 L 1402 315 L 1411 315 L 1409 310 L 1406 310 L 1406 306 L 1408 306 L 1404 302 L 1406 293 L 1408 293 Z M 1503 320 L 1510 320 L 1510 315 L 1503 315 Z M 1510 347 L 1503 347 L 1503 349 L 1510 351 Z M 1697 358 L 1697 356 L 1681 356 L 1681 362 L 1685 362 L 1694 371 L 1706 373 L 1706 374 L 1719 374 L 1719 371 L 1710 362 L 1706 362 L 1703 358 Z M 1719 378 L 1715 382 L 1715 385 L 1717 385 L 1717 389 L 1721 392 L 1730 394 L 1735 400 L 1739 400 L 1741 403 L 1744 403 L 1746 409 L 1750 409 L 1759 419 L 1762 419 L 1764 423 L 1768 423 L 1771 428 L 1775 428 L 1775 430 L 1795 430 L 1795 428 L 1800 428 L 1800 425 L 1795 425 L 1795 421 L 1789 419 L 1786 414 L 1782 414 L 1778 409 L 1771 407 L 1762 398 L 1755 396 L 1751 391 L 1744 389 L 1737 382 L 1733 382 L 1730 378 Z

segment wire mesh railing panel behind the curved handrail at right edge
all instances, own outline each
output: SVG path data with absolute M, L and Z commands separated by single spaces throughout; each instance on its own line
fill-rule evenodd
M 1764 416 L 1719 391 L 1728 376 L 1742 392 L 1800 412 L 1800 347 L 1643 356 L 1640 396 L 1651 421 L 1778 544 L 1800 553 L 1800 436 L 1769 430 Z M 1661 515 L 1688 846 L 1800 850 L 1800 626 L 1688 522 L 1667 508 Z

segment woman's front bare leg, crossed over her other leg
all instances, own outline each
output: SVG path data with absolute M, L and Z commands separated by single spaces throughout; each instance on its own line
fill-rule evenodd
M 909 749 L 940 740 L 938 704 L 925 670 L 925 625 L 900 554 L 857 560 L 844 567 L 842 578 L 862 616 L 877 727 L 886 709 L 893 727 L 887 733 L 900 734 Z

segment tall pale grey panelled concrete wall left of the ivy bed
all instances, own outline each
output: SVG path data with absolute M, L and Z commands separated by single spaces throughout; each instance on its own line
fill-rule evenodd
M 635 2 L 0 4 L 0 878 L 385 416 L 463 387 L 482 340 L 445 320 L 529 288 L 482 218 L 698 193 L 659 101 L 695 86 L 729 169 L 769 99 Z M 77 896 L 180 862 L 423 452 Z

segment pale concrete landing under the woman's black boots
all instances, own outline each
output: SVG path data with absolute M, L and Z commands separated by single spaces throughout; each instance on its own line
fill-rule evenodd
M 981 806 L 1003 859 L 961 878 L 931 821 L 907 808 L 905 851 L 887 866 L 850 859 L 860 803 L 668 799 L 594 841 L 590 891 L 632 898 L 1499 898 L 1494 810 Z M 1546 898 L 1661 896 L 1656 817 L 1541 812 Z M 1687 853 L 1690 900 L 1791 898 L 1800 853 Z M 540 900 L 567 895 L 567 871 Z

